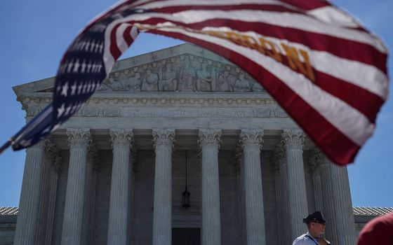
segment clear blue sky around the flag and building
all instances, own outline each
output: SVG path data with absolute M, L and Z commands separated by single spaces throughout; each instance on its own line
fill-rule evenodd
M 393 45 L 393 0 L 334 0 L 367 29 Z M 76 34 L 114 0 L 5 1 L 0 8 L 0 144 L 25 125 L 25 111 L 12 87 L 55 76 L 58 64 Z M 160 50 L 182 41 L 152 34 L 138 36 L 121 59 Z M 389 57 L 388 70 L 393 69 Z M 389 90 L 393 85 L 390 83 Z M 378 114 L 373 137 L 349 165 L 354 207 L 393 207 L 393 99 Z M 0 207 L 18 207 L 25 151 L 0 155 Z M 323 183 L 322 183 L 323 184 Z

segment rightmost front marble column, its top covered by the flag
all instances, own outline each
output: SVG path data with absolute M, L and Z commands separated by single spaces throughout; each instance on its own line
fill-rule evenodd
M 324 183 L 326 238 L 330 239 L 333 244 L 355 244 L 357 235 L 354 227 L 347 167 L 333 164 L 322 154 L 320 165 L 321 181 Z

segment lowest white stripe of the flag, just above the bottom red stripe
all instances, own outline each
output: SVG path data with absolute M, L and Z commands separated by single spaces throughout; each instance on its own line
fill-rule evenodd
M 166 32 L 178 32 L 185 34 L 192 38 L 198 38 L 202 41 L 210 42 L 227 48 L 232 52 L 237 52 L 253 62 L 259 64 L 279 78 L 283 83 L 298 94 L 309 106 L 312 106 L 318 113 L 321 114 L 331 125 L 342 132 L 348 139 L 361 146 L 366 139 L 373 134 L 374 125 L 368 121 L 368 118 L 362 113 L 349 106 L 347 103 L 333 97 L 318 86 L 311 83 L 304 76 L 295 73 L 284 64 L 276 62 L 275 59 L 261 55 L 256 50 L 251 50 L 232 42 L 226 41 L 222 38 L 215 38 L 213 36 L 206 36 L 203 34 L 195 34 L 185 31 L 184 29 L 159 29 Z

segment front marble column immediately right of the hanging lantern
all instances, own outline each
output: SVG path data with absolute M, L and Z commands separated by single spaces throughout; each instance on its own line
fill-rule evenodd
M 221 244 L 218 148 L 221 130 L 199 130 L 202 155 L 202 245 Z

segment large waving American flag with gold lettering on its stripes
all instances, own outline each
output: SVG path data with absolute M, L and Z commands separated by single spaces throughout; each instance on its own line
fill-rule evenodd
M 328 1 L 130 0 L 81 31 L 60 62 L 53 104 L 7 144 L 31 146 L 64 123 L 140 32 L 195 43 L 240 66 L 339 165 L 353 162 L 387 99 L 384 43 Z

